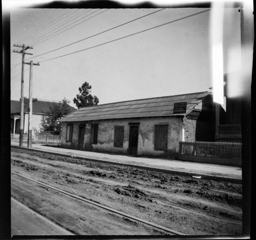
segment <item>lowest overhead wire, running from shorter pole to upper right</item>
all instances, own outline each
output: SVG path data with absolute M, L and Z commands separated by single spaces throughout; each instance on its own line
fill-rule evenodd
M 178 19 L 173 20 L 173 21 L 168 21 L 167 23 L 160 24 L 160 25 L 155 26 L 155 27 L 152 27 L 152 28 L 148 28 L 148 29 L 145 29 L 145 30 L 142 30 L 142 31 L 139 31 L 139 32 L 130 34 L 130 35 L 123 36 L 123 37 L 119 37 L 119 38 L 114 39 L 114 40 L 111 40 L 111 41 L 103 42 L 103 43 L 101 43 L 101 44 L 95 45 L 95 46 L 90 47 L 90 48 L 86 48 L 86 49 L 82 49 L 82 50 L 79 50 L 79 51 L 76 51 L 76 52 L 72 52 L 72 53 L 68 53 L 68 54 L 65 54 L 65 55 L 61 55 L 61 56 L 58 56 L 58 57 L 53 57 L 53 58 L 50 58 L 50 59 L 46 59 L 46 60 L 41 61 L 41 62 L 50 61 L 50 60 L 53 60 L 53 59 L 56 59 L 56 58 L 65 57 L 65 56 L 68 56 L 68 55 L 72 55 L 72 54 L 75 54 L 75 53 L 79 53 L 79 52 L 82 52 L 82 51 L 86 51 L 86 50 L 89 50 L 89 49 L 93 49 L 93 48 L 96 48 L 96 47 L 100 47 L 100 46 L 103 46 L 103 45 L 105 45 L 105 44 L 108 44 L 108 43 L 111 43 L 111 42 L 114 42 L 114 41 L 118 41 L 118 40 L 120 40 L 120 39 L 124 39 L 124 38 L 127 38 L 127 37 L 131 37 L 131 36 L 137 35 L 137 34 L 139 34 L 139 33 L 143 33 L 143 32 L 146 32 L 146 31 L 155 29 L 155 28 L 159 28 L 159 27 L 165 26 L 165 25 L 167 25 L 167 24 L 174 23 L 175 21 L 179 21 L 179 20 L 182 20 L 182 19 L 191 17 L 191 16 L 195 16 L 195 15 L 198 15 L 198 14 L 201 14 L 201 13 L 204 13 L 204 12 L 207 12 L 207 11 L 209 11 L 209 10 L 210 10 L 210 9 L 207 9 L 207 10 L 205 10 L 205 11 L 201 11 L 201 12 L 194 13 L 194 14 L 191 14 L 191 15 L 188 15 L 188 16 L 185 16 L 185 17 L 181 17 L 181 18 L 178 18 Z

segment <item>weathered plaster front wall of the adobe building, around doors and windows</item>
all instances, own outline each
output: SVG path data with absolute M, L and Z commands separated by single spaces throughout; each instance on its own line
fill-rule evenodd
M 182 140 L 182 122 L 178 117 L 133 118 L 91 121 L 86 123 L 84 134 L 84 150 L 108 151 L 127 154 L 129 148 L 129 133 L 132 122 L 140 122 L 138 137 L 138 155 L 161 156 L 164 154 L 175 156 L 179 151 L 179 141 Z M 61 125 L 61 146 L 78 148 L 79 123 L 73 125 L 72 143 L 66 142 L 67 122 Z M 98 143 L 90 144 L 91 124 L 98 123 Z M 154 150 L 155 125 L 168 124 L 167 152 Z M 114 147 L 114 127 L 124 126 L 123 147 Z

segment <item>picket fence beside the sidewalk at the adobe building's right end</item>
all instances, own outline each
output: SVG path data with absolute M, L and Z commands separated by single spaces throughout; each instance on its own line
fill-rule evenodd
M 181 141 L 179 159 L 205 163 L 242 165 L 242 144 Z

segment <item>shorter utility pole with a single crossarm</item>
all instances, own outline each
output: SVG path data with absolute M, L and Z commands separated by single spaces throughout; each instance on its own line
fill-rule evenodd
M 29 127 L 28 127 L 28 147 L 32 147 L 32 82 L 33 82 L 33 65 L 39 66 L 39 63 L 24 62 L 25 64 L 30 64 L 30 74 L 29 74 Z

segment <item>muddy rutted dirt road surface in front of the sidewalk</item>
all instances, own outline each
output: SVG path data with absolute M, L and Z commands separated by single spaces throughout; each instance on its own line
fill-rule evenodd
M 242 234 L 241 184 L 17 148 L 11 148 L 11 164 L 12 171 L 184 235 Z M 93 213 L 92 206 L 18 176 L 12 175 L 11 192 L 18 201 L 75 234 L 168 234 L 115 214 L 106 217 L 101 209 Z

